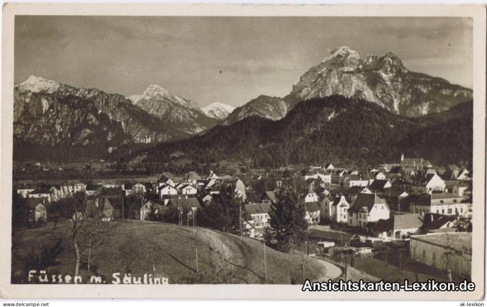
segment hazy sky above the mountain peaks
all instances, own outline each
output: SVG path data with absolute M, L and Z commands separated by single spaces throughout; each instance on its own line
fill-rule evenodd
M 339 46 L 472 88 L 472 20 L 438 17 L 17 16 L 15 83 L 30 75 L 126 96 L 157 84 L 240 106 L 283 97 Z

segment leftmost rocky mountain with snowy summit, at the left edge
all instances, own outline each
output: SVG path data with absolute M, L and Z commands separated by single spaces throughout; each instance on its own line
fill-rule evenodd
M 19 141 L 103 144 L 112 150 L 121 144 L 187 136 L 184 129 L 149 114 L 120 94 L 76 88 L 37 76 L 14 87 L 14 138 Z

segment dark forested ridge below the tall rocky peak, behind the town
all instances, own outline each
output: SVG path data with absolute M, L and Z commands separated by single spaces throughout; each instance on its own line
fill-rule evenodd
M 221 160 L 250 160 L 254 167 L 368 165 L 398 163 L 404 153 L 446 165 L 471 162 L 472 133 L 472 101 L 434 115 L 405 117 L 361 98 L 332 95 L 301 101 L 277 121 L 249 116 L 157 145 L 147 162 L 175 163 L 177 154 L 194 165 Z

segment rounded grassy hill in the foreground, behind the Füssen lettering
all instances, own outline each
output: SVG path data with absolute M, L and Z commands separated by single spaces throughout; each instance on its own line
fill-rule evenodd
M 152 273 L 168 277 L 169 283 L 300 284 L 303 263 L 305 278 L 321 280 L 326 275 L 326 266 L 316 259 L 266 247 L 264 279 L 262 242 L 250 238 L 157 222 L 142 225 L 136 221 L 115 221 L 112 226 L 102 244 L 91 251 L 90 271 L 107 283 L 112 282 L 113 273 L 120 272 L 123 277 L 131 272 L 134 276 Z M 36 265 L 33 259 L 40 257 L 44 248 L 52 249 L 58 240 L 62 251 L 56 256 L 56 264 L 42 269 L 48 274 L 74 274 L 75 252 L 67 226 L 49 223 L 13 234 L 13 282 L 26 282 L 27 272 L 32 269 L 28 266 Z M 83 261 L 86 259 L 85 256 Z M 86 263 L 79 275 L 83 281 L 88 279 Z

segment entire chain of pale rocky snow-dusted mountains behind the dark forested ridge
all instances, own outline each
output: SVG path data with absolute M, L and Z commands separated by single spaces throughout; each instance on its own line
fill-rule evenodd
M 200 108 L 196 102 L 158 85 L 150 85 L 139 95 L 125 97 L 30 76 L 14 87 L 14 145 L 22 144 L 14 148 L 25 151 L 25 148 L 37 145 L 44 146 L 47 151 L 57 151 L 59 146 L 63 146 L 76 152 L 84 146 L 90 148 L 86 151 L 93 155 L 107 155 L 132 144 L 146 144 L 147 147 L 205 133 L 211 136 L 215 131 L 223 131 L 224 126 L 233 126 L 249 117 L 253 118 L 252 121 L 259 121 L 254 118 L 257 116 L 282 124 L 285 121 L 280 120 L 289 119 L 288 115 L 298 105 L 305 108 L 314 99 L 336 95 L 348 98 L 345 100 L 351 103 L 348 109 L 356 112 L 363 113 L 360 108 L 372 103 L 404 121 L 415 123 L 414 117 L 435 122 L 443 116 L 438 112 L 470 101 L 472 90 L 452 85 L 441 78 L 411 72 L 392 53 L 367 55 L 361 59 L 356 51 L 346 46 L 333 50 L 322 62 L 305 72 L 285 97 L 260 95 L 238 108 L 222 103 Z M 321 116 L 318 114 L 325 119 L 331 116 L 330 120 L 336 116 L 328 112 L 309 113 L 307 116 Z M 306 121 L 309 119 L 303 119 Z M 242 131 L 247 130 L 241 128 Z M 295 130 L 301 131 L 297 127 Z M 296 137 L 298 140 L 302 138 L 298 134 Z M 253 137 L 249 135 L 249 138 Z M 223 149 L 230 146 L 222 145 Z M 246 148 L 247 144 L 242 146 Z M 36 153 L 36 150 L 31 150 L 32 155 Z M 283 161 L 295 160 L 288 157 Z

